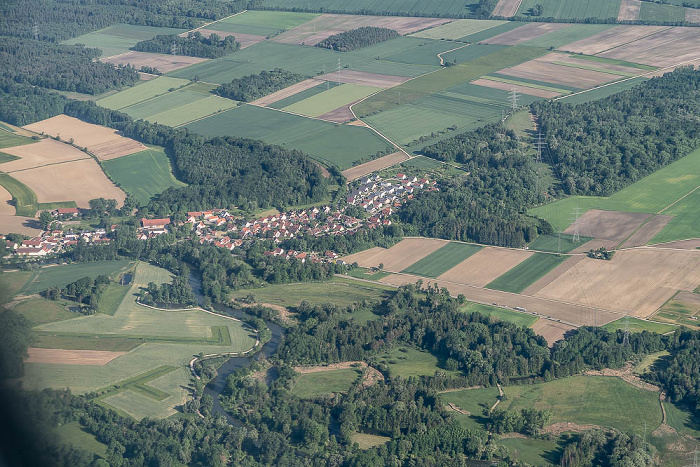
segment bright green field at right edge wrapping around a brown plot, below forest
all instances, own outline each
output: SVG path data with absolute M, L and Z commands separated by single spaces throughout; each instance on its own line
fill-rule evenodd
M 609 211 L 648 212 L 674 215 L 651 243 L 700 236 L 700 211 L 696 209 L 700 190 L 666 209 L 700 185 L 700 149 L 654 172 L 608 198 L 572 196 L 531 209 L 530 214 L 549 221 L 556 230 L 571 222 L 576 207 Z

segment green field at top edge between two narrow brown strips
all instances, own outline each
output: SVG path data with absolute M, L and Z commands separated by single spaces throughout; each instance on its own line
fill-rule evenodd
M 538 4 L 544 7 L 541 18 L 613 18 L 617 21 L 617 14 L 620 11 L 619 0 L 523 0 L 516 15 L 527 16 L 528 11 Z

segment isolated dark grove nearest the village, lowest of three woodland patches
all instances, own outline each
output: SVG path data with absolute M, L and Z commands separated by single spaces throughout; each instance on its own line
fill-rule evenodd
M 214 89 L 214 92 L 228 99 L 250 102 L 304 79 L 306 76 L 299 73 L 275 68 L 272 71 L 261 71 L 257 75 L 233 79 L 230 83 L 224 83 Z

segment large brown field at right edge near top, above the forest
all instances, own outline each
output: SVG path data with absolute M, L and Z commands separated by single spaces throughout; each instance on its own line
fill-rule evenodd
M 600 53 L 601 57 L 658 67 L 700 58 L 700 30 L 671 28 Z

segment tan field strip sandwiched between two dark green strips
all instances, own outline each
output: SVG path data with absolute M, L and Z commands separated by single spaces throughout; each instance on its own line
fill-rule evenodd
M 443 273 L 438 280 L 483 287 L 531 255 L 525 250 L 485 247 Z

